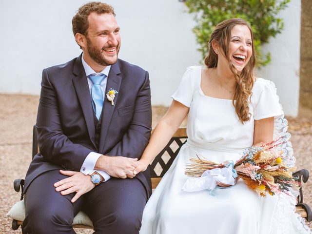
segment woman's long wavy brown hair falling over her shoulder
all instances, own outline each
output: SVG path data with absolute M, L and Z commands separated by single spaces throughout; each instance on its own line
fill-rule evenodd
M 252 49 L 253 55 L 251 56 L 249 62 L 244 67 L 242 72 L 239 74 L 229 58 L 229 45 L 231 39 L 231 31 L 233 27 L 237 24 L 245 25 L 249 28 L 252 35 Z M 215 27 L 214 32 L 211 34 L 209 40 L 208 55 L 204 62 L 208 68 L 217 67 L 218 55 L 215 53 L 212 42 L 217 41 L 220 48 L 224 53 L 225 58 L 228 59 L 230 64 L 230 70 L 234 74 L 234 78 L 237 82 L 236 90 L 233 97 L 233 105 L 235 107 L 235 112 L 242 123 L 250 120 L 248 98 L 252 95 L 252 89 L 254 86 L 254 66 L 256 63 L 256 55 L 254 51 L 254 34 L 251 26 L 242 19 L 234 18 L 230 20 L 224 20 L 218 23 Z M 222 53 L 222 52 L 221 52 Z M 236 100 L 236 102 L 234 102 Z

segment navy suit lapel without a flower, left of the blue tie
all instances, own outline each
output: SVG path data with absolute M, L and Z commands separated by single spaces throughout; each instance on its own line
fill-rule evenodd
M 92 109 L 92 101 L 89 91 L 88 80 L 81 63 L 81 55 L 76 59 L 74 64 L 73 73 L 75 78 L 73 78 L 73 84 L 76 89 L 78 100 L 80 102 L 84 119 L 86 121 L 89 137 L 96 147 L 95 144 L 95 125 Z

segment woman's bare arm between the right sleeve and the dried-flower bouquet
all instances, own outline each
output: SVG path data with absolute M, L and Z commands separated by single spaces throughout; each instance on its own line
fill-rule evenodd
M 254 120 L 254 146 L 273 140 L 274 117 Z

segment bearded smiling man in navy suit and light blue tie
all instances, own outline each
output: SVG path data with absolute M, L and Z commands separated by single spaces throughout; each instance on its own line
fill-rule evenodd
M 75 233 L 83 210 L 97 234 L 137 234 L 151 195 L 149 172 L 133 174 L 151 132 L 149 76 L 117 58 L 113 7 L 87 3 L 72 23 L 83 53 L 43 70 L 23 230 Z

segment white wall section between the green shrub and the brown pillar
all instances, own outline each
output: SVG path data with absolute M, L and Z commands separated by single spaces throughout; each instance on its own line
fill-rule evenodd
M 291 0 L 279 16 L 285 28 L 263 47 L 264 52 L 271 52 L 272 61 L 259 73 L 275 83 L 285 114 L 295 117 L 299 108 L 301 0 Z

